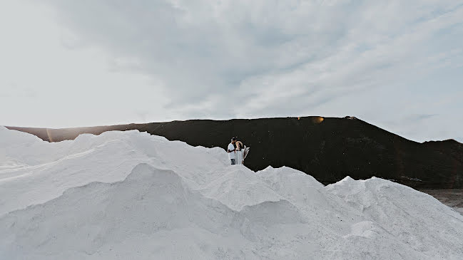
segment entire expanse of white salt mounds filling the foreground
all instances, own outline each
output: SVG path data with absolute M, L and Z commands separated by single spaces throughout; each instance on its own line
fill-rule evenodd
M 0 128 L 0 259 L 462 259 L 463 217 L 373 178 L 324 187 L 136 131 Z

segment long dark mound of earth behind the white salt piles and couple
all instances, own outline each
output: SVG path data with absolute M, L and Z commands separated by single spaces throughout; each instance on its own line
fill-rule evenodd
M 455 140 L 413 142 L 353 117 L 187 120 L 91 128 L 16 128 L 49 142 L 81 133 L 139 130 L 189 145 L 227 147 L 236 136 L 251 148 L 245 165 L 262 170 L 288 166 L 329 184 L 347 175 L 381 177 L 414 188 L 463 187 L 463 145 Z

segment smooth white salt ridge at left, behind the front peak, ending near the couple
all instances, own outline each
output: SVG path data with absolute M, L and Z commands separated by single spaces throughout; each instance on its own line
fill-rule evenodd
M 6 128 L 0 134 L 4 135 L 0 140 L 4 140 L 6 153 L 0 165 L 10 165 L 10 169 L 0 171 L 0 216 L 54 199 L 71 187 L 124 180 L 143 162 L 179 170 L 193 184 L 209 182 L 202 174 L 211 170 L 208 165 L 225 165 L 214 156 L 220 148 L 205 151 L 136 130 L 80 135 L 74 141 L 53 143 Z

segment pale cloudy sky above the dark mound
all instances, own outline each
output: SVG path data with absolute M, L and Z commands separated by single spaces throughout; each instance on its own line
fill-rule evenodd
M 0 0 L 0 125 L 355 116 L 463 142 L 463 0 Z

